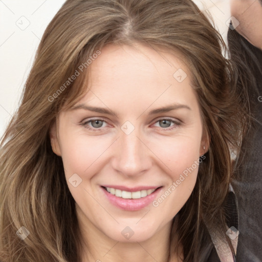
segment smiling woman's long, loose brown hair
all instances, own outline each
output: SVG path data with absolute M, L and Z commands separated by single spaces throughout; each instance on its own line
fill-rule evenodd
M 87 59 L 108 43 L 134 42 L 185 57 L 210 140 L 194 190 L 179 212 L 184 261 L 201 261 L 206 225 L 222 225 L 226 237 L 230 148 L 237 151 L 244 121 L 234 69 L 222 55 L 219 33 L 190 0 L 68 0 L 41 39 L 23 98 L 2 139 L 2 262 L 80 261 L 75 202 L 61 158 L 52 151 L 50 127 L 61 108 L 85 92 Z M 67 82 L 81 64 L 83 73 Z M 24 241 L 16 234 L 21 226 L 30 232 Z

